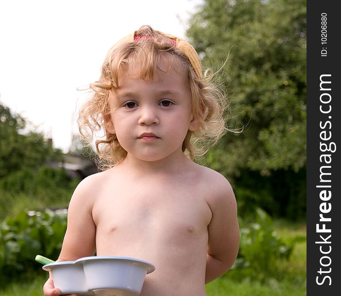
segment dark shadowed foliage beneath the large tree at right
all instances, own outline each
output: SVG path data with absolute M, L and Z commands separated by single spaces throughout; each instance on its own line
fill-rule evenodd
M 292 221 L 306 219 L 306 168 L 298 172 L 278 170 L 271 176 L 245 170 L 234 181 L 242 218 L 252 217 L 255 209 L 261 207 L 273 217 L 286 217 Z

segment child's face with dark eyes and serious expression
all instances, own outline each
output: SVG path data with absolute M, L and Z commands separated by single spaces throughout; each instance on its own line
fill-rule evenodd
M 120 73 L 119 88 L 112 91 L 106 129 L 116 134 L 127 157 L 156 161 L 182 155 L 187 132 L 199 128 L 186 72 L 179 63 L 171 70 L 163 62 L 158 66 L 165 72 L 157 70 L 152 80 L 143 80 L 139 64 L 132 65 Z

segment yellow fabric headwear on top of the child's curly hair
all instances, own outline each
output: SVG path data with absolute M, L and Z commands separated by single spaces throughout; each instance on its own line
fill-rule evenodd
M 195 51 L 194 47 L 189 44 L 186 40 L 173 36 L 173 35 L 169 35 L 169 34 L 165 34 L 162 33 L 160 31 L 156 31 L 157 33 L 159 33 L 162 36 L 168 37 L 171 40 L 174 40 L 174 44 L 176 45 L 177 48 L 179 48 L 188 58 L 188 60 L 190 61 L 195 73 L 198 75 L 198 77 L 200 79 L 203 78 L 203 74 L 202 74 L 202 68 L 201 68 L 201 60 L 197 54 L 197 52 Z M 140 39 L 143 38 L 142 37 L 136 37 L 136 31 L 132 34 L 129 34 L 126 37 L 123 37 L 121 40 L 119 40 L 115 46 L 123 44 L 123 43 L 127 43 L 127 42 L 131 42 L 134 41 L 136 39 Z M 149 36 L 145 36 L 144 38 L 149 38 Z M 152 38 L 152 37 L 150 37 Z

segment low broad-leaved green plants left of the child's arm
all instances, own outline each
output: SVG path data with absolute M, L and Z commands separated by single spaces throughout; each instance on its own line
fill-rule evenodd
M 65 210 L 20 212 L 7 218 L 0 228 L 0 283 L 37 267 L 42 254 L 57 258 L 67 226 Z

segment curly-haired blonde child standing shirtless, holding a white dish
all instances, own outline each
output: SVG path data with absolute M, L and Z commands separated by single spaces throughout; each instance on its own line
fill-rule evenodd
M 207 72 L 206 72 L 207 73 Z M 153 263 L 141 296 L 205 296 L 239 248 L 236 199 L 219 173 L 196 164 L 225 132 L 225 98 L 185 40 L 142 26 L 108 52 L 81 108 L 83 136 L 103 172 L 84 179 L 68 208 L 60 261 L 93 256 Z M 44 295 L 59 295 L 50 277 Z

